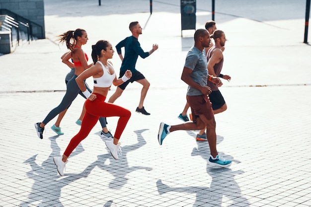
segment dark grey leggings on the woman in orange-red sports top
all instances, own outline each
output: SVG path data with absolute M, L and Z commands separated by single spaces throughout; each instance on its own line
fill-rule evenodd
M 61 113 L 62 111 L 64 111 L 65 109 L 67 109 L 71 103 L 76 99 L 76 97 L 78 96 L 78 94 L 80 93 L 81 96 L 83 96 L 83 98 L 86 99 L 86 97 L 82 94 L 77 82 L 76 82 L 76 78 L 78 77 L 78 75 L 74 75 L 67 83 L 67 90 L 66 90 L 66 94 L 62 100 L 62 102 L 60 103 L 60 105 L 58 105 L 56 108 L 52 109 L 52 111 L 50 111 L 50 113 L 46 116 L 46 118 L 42 121 L 43 124 L 48 124 L 52 119 L 54 119 L 59 113 Z M 84 84 L 86 86 L 86 89 L 91 93 L 92 90 L 88 87 L 88 85 L 85 83 L 84 80 Z M 102 128 L 106 127 L 106 119 L 104 117 L 100 117 L 99 118 L 99 122 Z

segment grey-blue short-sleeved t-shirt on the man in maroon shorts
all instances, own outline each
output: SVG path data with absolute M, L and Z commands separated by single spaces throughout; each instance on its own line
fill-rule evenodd
M 184 67 L 192 69 L 190 76 L 196 83 L 207 86 L 207 59 L 203 51 L 200 51 L 194 46 L 191 47 L 188 51 Z M 200 90 L 188 86 L 187 95 L 198 96 L 202 95 L 202 93 Z

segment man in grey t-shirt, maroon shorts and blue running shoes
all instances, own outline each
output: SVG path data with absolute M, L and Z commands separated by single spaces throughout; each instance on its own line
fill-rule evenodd
M 212 166 L 227 167 L 230 160 L 224 159 L 218 154 L 216 143 L 216 122 L 209 100 L 211 88 L 207 86 L 207 80 L 222 85 L 218 77 L 208 74 L 207 59 L 203 53 L 204 48 L 211 43 L 210 34 L 206 29 L 198 29 L 194 33 L 194 46 L 189 50 L 181 79 L 188 84 L 187 102 L 191 107 L 192 121 L 181 125 L 160 124 L 157 139 L 162 145 L 163 139 L 177 130 L 202 130 L 206 127 L 206 137 L 209 142 L 211 155 L 208 163 Z

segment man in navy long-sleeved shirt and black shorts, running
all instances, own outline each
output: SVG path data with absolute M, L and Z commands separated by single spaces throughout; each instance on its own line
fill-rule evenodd
M 138 21 L 130 23 L 130 31 L 132 32 L 132 36 L 125 38 L 121 42 L 116 45 L 117 52 L 120 56 L 122 61 L 121 69 L 120 69 L 120 77 L 122 77 L 127 69 L 131 70 L 132 77 L 124 82 L 123 84 L 119 85 L 114 94 L 109 98 L 108 102 L 113 103 L 117 98 L 121 96 L 126 86 L 131 82 L 134 81 L 139 82 L 143 85 L 141 99 L 139 102 L 138 107 L 136 108 L 136 112 L 142 113 L 144 115 L 150 115 L 145 108 L 144 108 L 144 100 L 146 98 L 147 91 L 149 89 L 150 83 L 145 78 L 145 76 L 135 69 L 135 65 L 138 59 L 138 56 L 145 59 L 150 56 L 153 52 L 155 52 L 158 48 L 157 44 L 153 45 L 153 49 L 149 52 L 144 52 L 141 48 L 140 43 L 138 42 L 138 36 L 142 34 L 143 28 L 138 23 Z M 121 48 L 125 49 L 124 58 L 121 52 Z

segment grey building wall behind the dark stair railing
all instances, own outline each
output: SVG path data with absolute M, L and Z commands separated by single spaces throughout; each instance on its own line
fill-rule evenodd
M 44 0 L 0 0 L 0 8 L 8 9 L 40 26 L 33 25 L 33 35 L 39 39 L 45 38 Z M 22 29 L 22 27 L 20 27 Z

